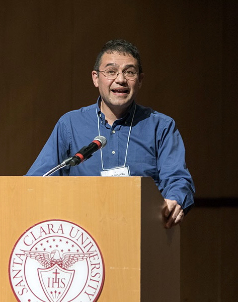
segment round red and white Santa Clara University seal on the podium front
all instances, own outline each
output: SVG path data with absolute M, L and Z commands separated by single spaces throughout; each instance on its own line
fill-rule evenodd
M 104 276 L 97 243 L 83 228 L 63 220 L 28 229 L 9 262 L 11 286 L 20 302 L 94 302 Z

